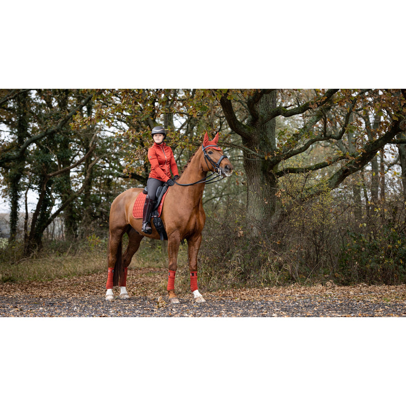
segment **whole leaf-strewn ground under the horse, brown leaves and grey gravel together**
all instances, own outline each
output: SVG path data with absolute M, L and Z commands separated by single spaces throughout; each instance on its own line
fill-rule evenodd
M 179 304 L 158 301 L 166 272 L 134 270 L 128 278 L 130 299 L 104 299 L 104 274 L 52 282 L 0 284 L 0 317 L 405 317 L 406 286 L 311 288 L 289 286 L 190 293 Z M 115 288 L 115 294 L 118 289 Z M 162 292 L 162 289 L 161 289 Z

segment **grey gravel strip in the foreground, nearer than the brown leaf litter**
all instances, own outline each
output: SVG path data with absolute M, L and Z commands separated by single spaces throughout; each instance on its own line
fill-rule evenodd
M 365 301 L 323 300 L 303 297 L 294 301 L 235 301 L 222 299 L 206 303 L 180 300 L 158 307 L 157 300 L 132 297 L 107 302 L 101 298 L 38 300 L 30 296 L 2 298 L 0 317 L 379 317 L 406 316 L 406 304 Z

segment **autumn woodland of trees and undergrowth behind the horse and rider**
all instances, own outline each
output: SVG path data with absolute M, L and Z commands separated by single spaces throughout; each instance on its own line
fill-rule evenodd
M 2 197 L 10 209 L 3 260 L 44 256 L 49 247 L 66 252 L 79 242 L 104 250 L 111 202 L 146 185 L 150 130 L 163 125 L 180 170 L 206 131 L 220 133 L 235 167 L 231 178 L 205 188 L 199 257 L 208 285 L 403 283 L 405 95 L 0 90 Z

